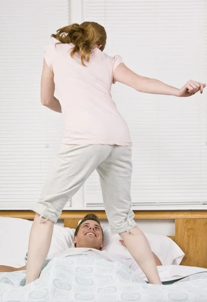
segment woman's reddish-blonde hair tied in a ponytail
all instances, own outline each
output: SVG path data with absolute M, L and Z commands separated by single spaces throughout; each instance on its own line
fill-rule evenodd
M 84 60 L 89 62 L 90 54 L 96 45 L 104 50 L 106 45 L 105 28 L 96 22 L 83 22 L 82 24 L 73 23 L 71 25 L 59 28 L 56 34 L 51 37 L 57 39 L 60 43 L 73 43 L 75 47 L 71 52 L 72 58 L 75 53 L 81 54 L 81 62 L 84 66 Z

